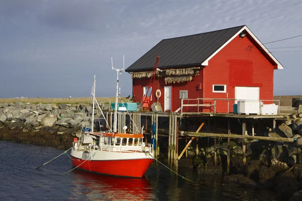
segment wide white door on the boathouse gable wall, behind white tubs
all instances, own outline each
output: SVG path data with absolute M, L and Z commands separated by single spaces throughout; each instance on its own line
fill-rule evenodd
M 236 86 L 236 100 L 259 100 L 259 87 Z M 235 101 L 237 103 L 237 101 Z

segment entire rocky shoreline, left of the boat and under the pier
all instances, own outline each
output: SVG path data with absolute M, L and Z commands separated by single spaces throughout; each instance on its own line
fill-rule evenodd
M 53 146 L 69 149 L 74 137 L 92 113 L 88 104 L 25 104 L 0 103 L 0 140 L 18 143 Z M 98 124 L 99 125 L 99 124 Z M 102 129 L 102 124 L 97 129 Z M 241 186 L 275 188 L 278 196 L 302 200 L 302 106 L 299 113 L 288 117 L 275 133 L 268 130 L 265 136 L 291 137 L 294 143 L 252 140 L 247 142 L 247 165 L 243 165 L 242 141 L 231 141 L 230 174 L 226 175 L 228 144 L 202 147 L 196 155 L 193 149 L 187 160 L 199 174 L 221 174 L 224 183 Z M 283 136 L 282 136 L 283 135 Z M 214 165 L 216 153 L 217 165 Z

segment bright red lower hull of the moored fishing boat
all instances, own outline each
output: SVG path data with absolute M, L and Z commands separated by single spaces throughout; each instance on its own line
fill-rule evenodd
M 133 159 L 133 160 L 82 160 L 71 156 L 72 166 L 114 176 L 142 177 L 147 171 L 153 159 Z

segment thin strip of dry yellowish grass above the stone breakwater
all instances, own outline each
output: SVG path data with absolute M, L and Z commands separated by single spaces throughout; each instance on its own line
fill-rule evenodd
M 112 103 L 115 101 L 115 97 L 97 97 L 96 98 L 99 103 Z M 122 100 L 127 102 L 125 97 L 122 97 Z M 86 104 L 90 102 L 89 97 L 71 97 L 71 98 L 0 98 L 0 103 L 49 103 L 49 104 L 58 104 L 58 103 L 66 103 L 66 104 Z

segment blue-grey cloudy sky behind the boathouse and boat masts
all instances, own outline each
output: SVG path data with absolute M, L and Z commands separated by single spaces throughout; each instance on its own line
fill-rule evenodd
M 115 95 L 116 68 L 162 39 L 247 25 L 262 43 L 302 35 L 301 0 L 0 0 L 0 98 Z M 302 37 L 267 44 L 275 95 L 302 95 Z M 296 48 L 280 48 L 296 47 Z M 122 96 L 131 78 L 120 76 Z

